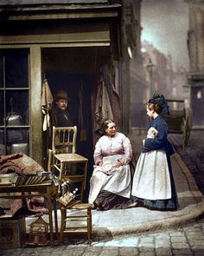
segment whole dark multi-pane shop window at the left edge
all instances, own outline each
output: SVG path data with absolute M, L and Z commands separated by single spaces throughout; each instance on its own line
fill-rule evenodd
M 29 154 L 29 51 L 1 49 L 0 154 Z

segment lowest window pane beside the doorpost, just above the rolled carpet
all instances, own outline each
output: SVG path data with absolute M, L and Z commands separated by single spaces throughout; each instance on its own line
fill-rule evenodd
M 29 154 L 28 128 L 7 129 L 7 154 L 14 154 L 16 152 Z

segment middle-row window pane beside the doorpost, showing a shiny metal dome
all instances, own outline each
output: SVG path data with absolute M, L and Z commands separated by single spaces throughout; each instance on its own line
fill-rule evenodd
M 29 125 L 29 91 L 6 91 L 6 125 Z

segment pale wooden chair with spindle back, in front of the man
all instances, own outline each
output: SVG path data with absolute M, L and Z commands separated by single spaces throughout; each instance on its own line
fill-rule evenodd
M 58 172 L 59 180 L 80 185 L 80 201 L 86 189 L 88 160 L 76 154 L 77 127 L 53 127 L 52 149 L 48 150 L 48 171 Z

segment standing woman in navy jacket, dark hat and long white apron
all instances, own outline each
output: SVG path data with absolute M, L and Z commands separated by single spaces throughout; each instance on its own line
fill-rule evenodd
M 175 150 L 167 139 L 169 127 L 162 117 L 169 115 L 169 106 L 163 95 L 155 94 L 146 110 L 150 118 L 149 129 L 155 128 L 157 134 L 143 140 L 133 177 L 132 199 L 143 207 L 176 210 L 179 204 L 170 161 Z

